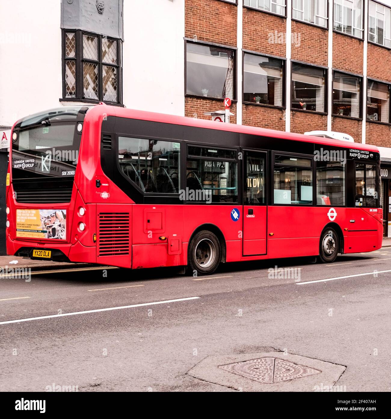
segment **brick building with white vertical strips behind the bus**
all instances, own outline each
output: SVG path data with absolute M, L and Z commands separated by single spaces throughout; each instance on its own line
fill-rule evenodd
M 376 145 L 388 208 L 387 3 L 185 0 L 185 115 L 210 118 L 204 113 L 221 109 L 229 92 L 235 114 L 230 122 L 299 133 L 344 132 L 355 142 Z

